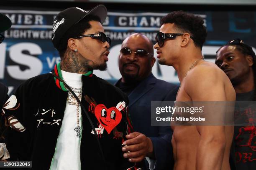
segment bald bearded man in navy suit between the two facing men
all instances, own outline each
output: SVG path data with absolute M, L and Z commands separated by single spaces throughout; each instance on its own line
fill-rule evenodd
M 131 152 L 124 153 L 124 157 L 139 162 L 146 156 L 151 160 L 151 169 L 166 170 L 173 167 L 172 130 L 169 126 L 151 126 L 151 101 L 174 101 L 178 87 L 154 77 L 151 70 L 155 61 L 148 37 L 140 33 L 127 37 L 118 58 L 122 78 L 115 85 L 128 95 L 128 109 L 136 131 L 127 135 L 123 151 Z

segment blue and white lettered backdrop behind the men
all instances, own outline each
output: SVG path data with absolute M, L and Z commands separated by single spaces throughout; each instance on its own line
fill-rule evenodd
M 86 9 L 84 9 L 86 10 Z M 108 69 L 95 70 L 98 77 L 115 82 L 121 75 L 118 70 L 118 55 L 121 43 L 134 32 L 141 32 L 155 43 L 160 19 L 171 11 L 109 11 L 103 24 L 105 33 L 112 40 Z M 256 11 L 188 11 L 205 20 L 208 35 L 202 48 L 205 60 L 214 62 L 216 50 L 229 40 L 241 38 L 256 52 Z M 0 81 L 9 87 L 9 94 L 23 81 L 36 75 L 50 72 L 60 62 L 57 50 L 51 43 L 52 22 L 59 11 L 0 9 L 13 25 L 3 32 L 5 40 L 0 44 Z M 156 50 L 154 51 L 156 57 Z M 173 67 L 155 63 L 153 74 L 162 80 L 178 83 Z

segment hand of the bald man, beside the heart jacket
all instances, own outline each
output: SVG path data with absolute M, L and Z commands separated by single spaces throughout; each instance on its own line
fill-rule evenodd
M 126 145 L 122 150 L 128 153 L 124 153 L 124 158 L 129 158 L 129 161 L 140 162 L 145 158 L 148 153 L 153 152 L 153 144 L 150 138 L 147 138 L 144 134 L 133 132 L 125 136 L 128 140 L 123 142 Z

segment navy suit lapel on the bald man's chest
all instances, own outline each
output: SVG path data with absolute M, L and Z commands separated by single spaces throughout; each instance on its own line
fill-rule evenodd
M 146 92 L 151 90 L 156 83 L 156 77 L 151 73 L 145 80 L 143 80 L 128 96 L 129 107 L 131 107 L 137 100 L 139 100 Z

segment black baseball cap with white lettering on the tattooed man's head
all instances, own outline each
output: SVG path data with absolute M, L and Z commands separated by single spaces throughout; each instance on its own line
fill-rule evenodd
M 97 5 L 89 11 L 85 11 L 79 7 L 69 7 L 66 10 L 61 11 L 56 18 L 54 18 L 52 25 L 53 34 L 51 36 L 51 41 L 54 44 L 54 47 L 58 47 L 61 37 L 63 37 L 69 28 L 89 15 L 98 16 L 100 18 L 100 23 L 103 24 L 107 18 L 108 11 L 104 5 Z

